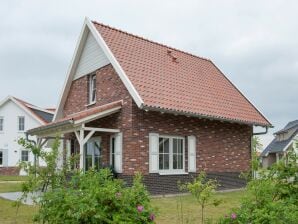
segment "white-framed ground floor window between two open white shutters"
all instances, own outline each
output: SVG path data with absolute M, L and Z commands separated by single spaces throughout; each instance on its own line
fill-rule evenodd
M 184 138 L 160 136 L 159 137 L 159 170 L 184 170 Z

